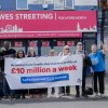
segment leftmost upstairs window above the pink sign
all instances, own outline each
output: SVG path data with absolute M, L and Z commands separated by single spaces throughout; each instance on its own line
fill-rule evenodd
M 16 0 L 16 10 L 28 10 L 28 0 Z

